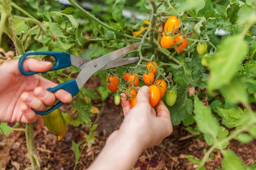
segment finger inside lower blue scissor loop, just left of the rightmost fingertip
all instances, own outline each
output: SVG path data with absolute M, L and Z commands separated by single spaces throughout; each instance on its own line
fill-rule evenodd
M 55 95 L 47 91 L 43 87 L 36 87 L 34 89 L 34 96 L 40 99 L 46 106 L 52 106 L 55 103 Z

